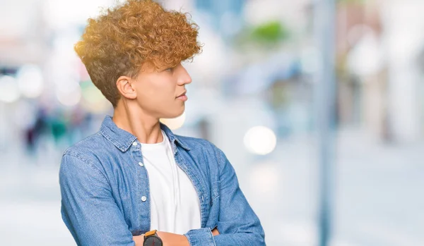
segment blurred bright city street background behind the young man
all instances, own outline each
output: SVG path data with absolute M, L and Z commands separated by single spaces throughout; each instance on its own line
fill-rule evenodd
M 329 245 L 424 245 L 424 1 L 339 0 L 325 14 L 312 0 L 161 2 L 192 13 L 205 44 L 184 64 L 185 113 L 163 122 L 223 149 L 267 245 L 319 245 L 322 196 Z M 0 1 L 0 245 L 76 245 L 60 215 L 61 154 L 112 106 L 73 44 L 115 3 Z

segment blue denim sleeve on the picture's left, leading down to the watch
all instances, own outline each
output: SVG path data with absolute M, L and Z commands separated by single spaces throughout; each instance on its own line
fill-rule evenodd
M 110 183 L 81 156 L 65 154 L 59 169 L 61 216 L 77 245 L 134 246 Z

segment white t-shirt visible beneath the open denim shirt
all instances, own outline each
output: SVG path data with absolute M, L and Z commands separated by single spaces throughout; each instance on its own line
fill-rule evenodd
M 141 144 L 151 194 L 151 230 L 184 234 L 201 227 L 199 196 L 187 174 L 175 164 L 172 147 L 163 142 Z

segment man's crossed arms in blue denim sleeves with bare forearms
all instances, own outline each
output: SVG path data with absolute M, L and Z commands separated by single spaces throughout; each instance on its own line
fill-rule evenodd
M 264 230 L 238 185 L 223 152 L 220 160 L 220 203 L 216 230 L 200 228 L 184 235 L 159 232 L 165 246 L 264 246 Z M 62 219 L 78 246 L 141 246 L 112 196 L 110 183 L 92 162 L 66 154 L 59 171 Z M 218 232 L 219 230 L 219 232 Z

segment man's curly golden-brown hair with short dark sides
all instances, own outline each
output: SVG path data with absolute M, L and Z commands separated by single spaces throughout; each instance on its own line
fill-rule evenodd
M 201 52 L 199 27 L 187 16 L 152 0 L 128 0 L 88 19 L 74 49 L 93 84 L 116 107 L 120 76 L 136 78 L 145 65 L 171 68 Z

